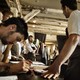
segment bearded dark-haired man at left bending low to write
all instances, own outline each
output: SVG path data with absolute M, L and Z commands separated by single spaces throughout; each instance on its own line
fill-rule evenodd
M 28 33 L 27 24 L 22 18 L 12 17 L 0 24 L 0 39 L 3 44 L 13 44 L 16 41 L 21 41 L 23 36 L 26 38 L 28 36 Z M 2 57 L 0 56 L 0 58 Z M 29 68 L 29 61 L 21 61 L 17 64 L 0 62 L 0 72 L 2 73 L 16 74 L 22 71 L 27 72 L 29 71 Z

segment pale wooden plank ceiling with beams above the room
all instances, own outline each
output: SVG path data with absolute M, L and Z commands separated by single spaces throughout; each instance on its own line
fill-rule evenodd
M 78 9 L 80 10 L 80 0 Z M 65 35 L 67 19 L 60 0 L 6 0 L 14 16 L 20 15 L 28 23 L 29 32 L 47 34 L 47 41 L 56 41 L 56 35 Z

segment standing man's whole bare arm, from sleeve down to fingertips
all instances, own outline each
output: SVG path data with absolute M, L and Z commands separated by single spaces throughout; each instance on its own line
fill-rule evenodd
M 44 77 L 51 78 L 54 75 L 55 78 L 59 76 L 61 65 L 72 55 L 73 51 L 75 50 L 79 42 L 79 37 L 80 36 L 77 34 L 71 34 L 69 36 L 60 55 L 57 57 L 54 63 L 48 68 L 48 71 L 43 74 Z

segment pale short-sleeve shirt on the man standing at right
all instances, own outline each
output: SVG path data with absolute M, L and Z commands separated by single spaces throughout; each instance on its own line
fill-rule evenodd
M 75 10 L 71 13 L 68 20 L 68 33 L 80 35 L 80 11 Z

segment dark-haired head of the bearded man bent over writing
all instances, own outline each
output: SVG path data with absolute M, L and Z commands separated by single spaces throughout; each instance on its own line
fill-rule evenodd
M 15 41 L 20 41 L 23 36 L 24 39 L 28 37 L 28 27 L 25 21 L 20 17 L 12 17 L 0 25 L 5 31 L 3 31 L 1 40 L 3 44 L 14 43 Z

